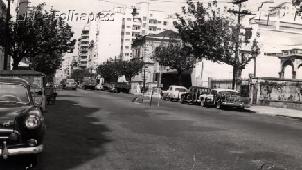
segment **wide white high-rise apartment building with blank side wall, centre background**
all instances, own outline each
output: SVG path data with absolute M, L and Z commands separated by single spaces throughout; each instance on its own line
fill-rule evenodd
M 132 7 L 117 7 L 109 12 L 103 11 L 105 14 L 113 13 L 114 21 L 98 19 L 94 66 L 110 57 L 130 59 L 131 44 L 139 35 L 176 30 L 173 26 L 173 22 L 177 21 L 175 16 L 167 15 L 164 11 L 150 10 L 149 6 L 148 0 L 137 3 L 136 15 L 133 15 Z

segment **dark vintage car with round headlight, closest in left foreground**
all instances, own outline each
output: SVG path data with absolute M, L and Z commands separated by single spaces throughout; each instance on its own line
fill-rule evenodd
M 44 117 L 24 79 L 0 77 L 0 156 L 29 155 L 37 163 L 43 151 Z

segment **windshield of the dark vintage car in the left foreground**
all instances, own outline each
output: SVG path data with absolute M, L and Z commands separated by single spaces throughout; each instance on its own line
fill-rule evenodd
M 28 103 L 28 93 L 21 84 L 0 84 L 0 102 Z

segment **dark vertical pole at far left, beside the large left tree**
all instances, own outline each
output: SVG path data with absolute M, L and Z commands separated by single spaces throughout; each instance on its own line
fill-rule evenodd
M 10 53 L 10 1 L 8 0 L 8 8 L 6 9 L 6 47 L 4 50 L 3 70 L 8 70 L 8 53 Z

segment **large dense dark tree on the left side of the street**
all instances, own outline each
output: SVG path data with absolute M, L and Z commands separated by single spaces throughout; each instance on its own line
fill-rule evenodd
M 10 55 L 13 69 L 18 68 L 24 57 L 33 59 L 37 55 L 72 53 L 75 45 L 71 26 L 62 18 L 55 18 L 53 11 L 44 10 L 46 3 L 30 8 L 24 22 L 12 23 L 10 26 Z M 57 55 L 61 57 L 61 55 Z

